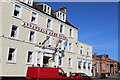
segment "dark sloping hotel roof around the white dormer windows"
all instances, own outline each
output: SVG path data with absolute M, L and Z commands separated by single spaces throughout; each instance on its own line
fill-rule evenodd
M 46 14 L 46 13 L 43 11 L 43 9 L 42 9 L 42 4 L 44 4 L 44 3 L 40 3 L 40 2 L 34 1 L 34 2 L 33 2 L 33 8 L 36 9 L 36 10 L 38 10 L 38 11 L 40 11 L 40 12 L 42 12 L 42 13 L 44 13 L 44 14 Z M 58 11 L 58 10 L 56 10 L 56 11 Z M 51 17 L 59 20 L 59 19 L 56 18 L 56 16 L 55 16 L 55 12 L 56 12 L 56 11 L 51 9 L 51 15 L 49 15 L 49 14 L 46 14 L 46 15 L 51 16 Z M 61 20 L 59 20 L 59 21 L 61 21 Z M 61 22 L 63 22 L 63 21 L 61 21 Z M 74 26 L 71 22 L 69 22 L 67 19 L 66 19 L 66 21 L 63 22 L 63 23 L 66 23 L 66 24 L 72 26 L 73 28 L 76 28 L 76 29 L 79 30 L 79 28 L 75 27 L 75 26 Z

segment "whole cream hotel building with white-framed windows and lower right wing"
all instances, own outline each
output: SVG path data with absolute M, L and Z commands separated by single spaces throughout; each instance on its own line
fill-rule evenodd
M 92 46 L 78 42 L 79 28 L 66 19 L 66 8 L 32 0 L 4 0 L 0 8 L 1 77 L 24 78 L 29 66 L 92 76 Z

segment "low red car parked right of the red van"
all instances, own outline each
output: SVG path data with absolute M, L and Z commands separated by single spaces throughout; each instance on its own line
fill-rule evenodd
M 69 80 L 92 80 L 91 77 L 87 76 L 85 73 L 72 73 L 69 76 Z

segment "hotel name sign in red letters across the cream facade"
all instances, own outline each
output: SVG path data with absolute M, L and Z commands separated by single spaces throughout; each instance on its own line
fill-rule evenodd
M 28 27 L 28 28 L 31 28 L 31 29 L 34 29 L 34 30 L 37 30 L 37 31 L 40 31 L 42 33 L 45 33 L 45 34 L 48 34 L 48 35 L 51 35 L 51 36 L 54 36 L 54 37 L 58 37 L 58 38 L 61 38 L 61 39 L 64 39 L 64 40 L 67 39 L 67 37 L 65 37 L 63 34 L 58 34 L 58 33 L 55 33 L 53 31 L 49 31 L 49 30 L 40 28 L 38 26 L 34 26 L 34 25 L 32 25 L 30 23 L 27 23 L 27 22 L 23 22 L 22 26 Z

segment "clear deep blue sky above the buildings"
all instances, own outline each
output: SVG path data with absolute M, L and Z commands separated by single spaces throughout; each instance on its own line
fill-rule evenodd
M 67 19 L 80 28 L 78 41 L 93 46 L 93 54 L 118 60 L 117 2 L 45 2 L 53 10 L 67 8 Z

